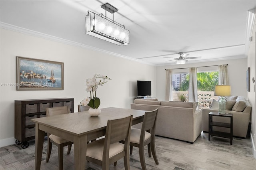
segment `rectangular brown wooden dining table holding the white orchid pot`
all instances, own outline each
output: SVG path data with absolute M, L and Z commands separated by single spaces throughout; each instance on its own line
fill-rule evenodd
M 45 132 L 73 142 L 74 168 L 85 170 L 87 141 L 104 136 L 108 120 L 133 115 L 132 125 L 135 125 L 143 121 L 144 114 L 142 110 L 108 107 L 101 109 L 97 117 L 83 111 L 31 119 L 36 126 L 35 169 L 40 170 Z

